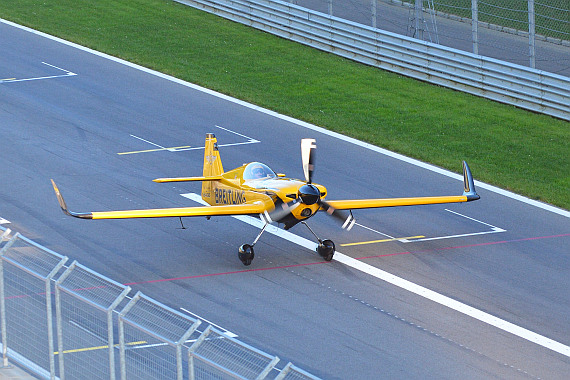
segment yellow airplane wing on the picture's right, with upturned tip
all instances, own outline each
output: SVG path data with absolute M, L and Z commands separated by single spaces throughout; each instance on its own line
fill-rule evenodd
M 379 198 L 379 199 L 349 199 L 340 201 L 326 201 L 326 206 L 334 210 L 353 210 L 362 208 L 415 206 L 438 203 L 460 203 L 479 199 L 475 191 L 473 175 L 465 161 L 463 161 L 463 194 L 441 197 L 413 197 L 413 198 Z M 329 211 L 330 212 L 330 211 Z

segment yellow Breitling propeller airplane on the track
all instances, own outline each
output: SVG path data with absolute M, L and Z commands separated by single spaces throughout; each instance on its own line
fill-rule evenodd
M 319 243 L 317 253 L 326 261 L 330 261 L 335 252 L 334 243 L 328 239 L 321 240 L 305 222 L 317 211 L 325 211 L 340 219 L 342 228 L 350 230 L 355 223 L 351 211 L 354 209 L 458 203 L 479 199 L 473 184 L 473 176 L 469 166 L 464 161 L 464 191 L 462 195 L 327 201 L 325 200 L 327 189 L 311 181 L 315 149 L 314 139 L 301 140 L 304 181 L 287 178 L 285 174 L 277 174 L 260 162 L 251 162 L 224 172 L 216 137 L 213 133 L 208 133 L 206 135 L 202 177 L 158 178 L 154 182 L 201 181 L 202 199 L 210 206 L 78 213 L 67 208 L 55 182 L 53 179 L 51 181 L 63 212 L 76 218 L 127 219 L 205 216 L 209 219 L 212 216 L 219 215 L 259 216 L 264 222 L 260 233 L 253 243 L 243 244 L 238 250 L 239 259 L 244 265 L 251 264 L 254 257 L 253 246 L 272 222 L 282 223 L 286 230 L 299 222 L 305 224 Z

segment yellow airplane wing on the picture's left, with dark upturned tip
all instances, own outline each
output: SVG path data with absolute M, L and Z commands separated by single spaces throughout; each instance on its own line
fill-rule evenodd
M 197 206 L 197 207 L 174 207 L 157 208 L 147 210 L 124 210 L 124 211 L 98 211 L 98 212 L 73 212 L 67 208 L 65 200 L 57 185 L 51 180 L 59 206 L 69 216 L 81 219 L 130 219 L 130 218 L 163 218 L 182 216 L 218 216 L 218 215 L 254 215 L 261 214 L 273 209 L 272 202 L 256 201 L 253 203 L 225 206 Z

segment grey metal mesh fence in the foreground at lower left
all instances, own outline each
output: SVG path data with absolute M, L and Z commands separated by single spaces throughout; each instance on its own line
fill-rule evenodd
M 10 232 L 0 226 L 4 367 L 61 380 L 317 379 Z

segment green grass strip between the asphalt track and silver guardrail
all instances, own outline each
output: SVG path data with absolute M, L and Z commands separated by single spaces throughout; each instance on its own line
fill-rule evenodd
M 0 17 L 455 172 L 466 159 L 477 179 L 570 209 L 568 122 L 170 0 L 10 0 Z

